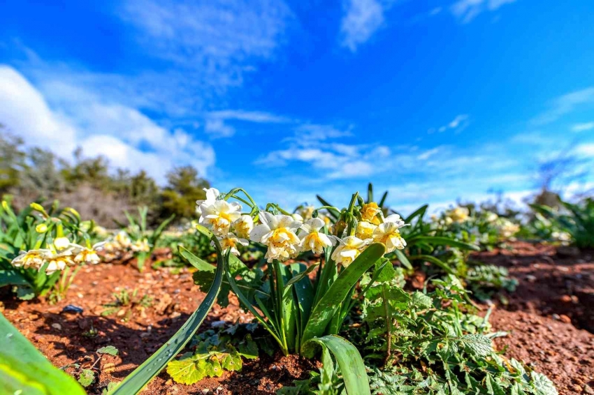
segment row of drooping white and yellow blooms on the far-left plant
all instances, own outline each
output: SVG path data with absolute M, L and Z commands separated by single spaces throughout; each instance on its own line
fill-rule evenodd
M 41 270 L 45 266 L 45 274 L 50 275 L 78 264 L 99 263 L 97 250 L 102 246 L 103 244 L 99 243 L 87 248 L 71 243 L 66 237 L 57 237 L 47 248 L 21 251 L 12 264 L 14 267 L 36 270 Z

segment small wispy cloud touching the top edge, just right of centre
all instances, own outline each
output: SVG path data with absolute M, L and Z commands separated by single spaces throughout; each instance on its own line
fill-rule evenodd
M 384 23 L 384 6 L 377 0 L 345 0 L 340 22 L 342 46 L 352 52 L 365 43 Z

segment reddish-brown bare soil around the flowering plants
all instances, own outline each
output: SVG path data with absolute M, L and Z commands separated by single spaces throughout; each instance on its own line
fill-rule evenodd
M 498 304 L 491 315 L 494 329 L 509 332 L 497 339 L 496 347 L 507 347 L 508 357 L 548 375 L 560 394 L 594 394 L 592 255 L 523 242 L 473 255 L 475 260 L 507 267 L 519 280 L 518 290 L 505 295 L 509 304 Z M 151 306 L 119 308 L 102 316 L 103 305 L 115 301 L 113 293 L 123 289 L 136 289 L 137 301 L 145 295 L 152 298 Z M 99 264 L 83 268 L 66 299 L 57 304 L 0 295 L 0 309 L 55 366 L 74 362 L 90 366 L 97 348 L 114 345 L 119 354 L 103 356 L 97 364 L 101 376 L 89 389 L 101 393 L 101 387 L 122 380 L 167 341 L 203 297 L 187 269 L 175 274 L 168 269 L 139 273 L 130 265 Z M 82 313 L 68 312 L 68 305 L 82 308 Z M 215 306 L 204 327 L 221 320 L 249 322 L 250 318 L 236 304 Z M 274 394 L 282 385 L 307 377 L 310 369 L 311 363 L 298 357 L 264 355 L 245 362 L 241 373 L 226 372 L 195 385 L 176 385 L 163 372 L 143 394 Z

